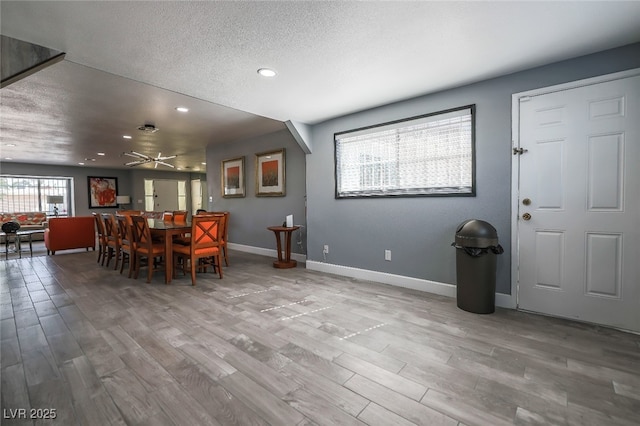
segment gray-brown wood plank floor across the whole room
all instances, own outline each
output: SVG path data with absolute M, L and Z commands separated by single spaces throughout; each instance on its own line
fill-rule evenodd
M 196 287 L 95 258 L 0 262 L 3 425 L 640 424 L 638 335 L 238 252 Z

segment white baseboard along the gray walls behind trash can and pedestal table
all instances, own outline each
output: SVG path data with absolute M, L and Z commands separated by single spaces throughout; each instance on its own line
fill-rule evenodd
M 260 256 L 268 256 L 273 258 L 278 257 L 277 250 L 273 249 L 253 247 L 235 243 L 229 243 L 229 248 L 231 250 L 243 251 Z M 297 260 L 298 262 L 306 263 L 307 269 L 310 269 L 312 271 L 342 275 L 344 277 L 357 278 L 365 281 L 375 281 L 382 284 L 389 284 L 397 287 L 410 288 L 413 290 L 438 294 L 440 296 L 456 297 L 456 286 L 454 284 L 407 277 L 404 275 L 389 274 L 387 272 L 370 271 L 368 269 L 353 268 L 351 266 L 316 262 L 314 260 L 307 260 L 307 257 L 304 254 L 298 253 L 291 253 L 291 258 Z M 516 309 L 515 296 L 510 294 L 496 293 L 496 306 L 507 309 Z

